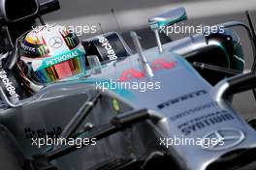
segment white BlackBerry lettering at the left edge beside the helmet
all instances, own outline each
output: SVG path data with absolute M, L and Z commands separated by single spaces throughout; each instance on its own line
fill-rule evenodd
M 6 71 L 4 70 L 0 71 L 0 78 L 4 84 L 6 91 L 10 96 L 10 100 L 13 102 L 16 102 L 17 100 L 19 100 L 19 95 L 17 95 L 16 93 L 16 87 L 14 86 L 13 82 L 8 78 Z

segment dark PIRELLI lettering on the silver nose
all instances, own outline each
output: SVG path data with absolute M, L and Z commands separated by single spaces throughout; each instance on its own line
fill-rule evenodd
M 199 90 L 199 91 L 192 92 L 190 94 L 178 97 L 176 99 L 171 99 L 171 100 L 168 100 L 168 101 L 163 102 L 161 104 L 158 104 L 157 107 L 159 109 L 164 109 L 165 107 L 169 107 L 170 105 L 176 104 L 180 101 L 183 101 L 183 100 L 186 100 L 186 99 L 193 99 L 193 98 L 196 98 L 196 97 L 199 97 L 199 96 L 202 96 L 202 95 L 206 95 L 207 93 L 208 92 L 206 90 Z

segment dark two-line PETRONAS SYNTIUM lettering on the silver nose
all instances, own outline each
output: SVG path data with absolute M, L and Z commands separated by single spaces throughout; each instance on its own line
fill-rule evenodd
M 234 116 L 226 110 L 215 111 L 190 121 L 186 121 L 177 126 L 178 129 L 184 134 L 189 135 L 203 128 L 208 128 L 220 123 L 225 123 L 234 120 Z

